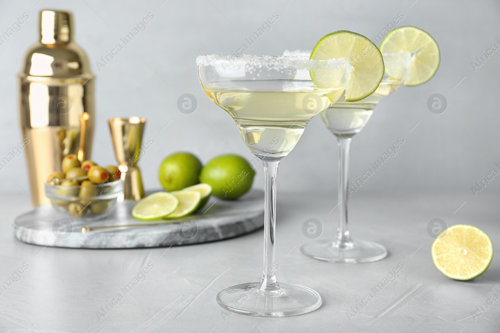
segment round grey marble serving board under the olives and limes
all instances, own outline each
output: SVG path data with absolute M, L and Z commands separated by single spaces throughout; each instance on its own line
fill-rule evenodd
M 251 190 L 233 201 L 212 197 L 198 212 L 172 220 L 172 224 L 81 232 L 81 227 L 142 223 L 130 214 L 135 203 L 117 202 L 110 215 L 97 221 L 68 219 L 51 206 L 36 207 L 14 219 L 14 237 L 28 244 L 62 248 L 149 248 L 219 241 L 247 234 L 264 225 L 264 193 Z

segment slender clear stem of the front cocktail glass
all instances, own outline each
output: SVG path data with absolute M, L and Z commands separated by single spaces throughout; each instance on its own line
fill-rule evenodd
M 280 295 L 281 289 L 276 282 L 274 241 L 276 236 L 276 174 L 279 161 L 262 161 L 264 167 L 264 271 L 260 279 L 259 293 Z

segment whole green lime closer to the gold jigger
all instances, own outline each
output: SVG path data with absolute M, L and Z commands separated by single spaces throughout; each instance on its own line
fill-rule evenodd
M 190 153 L 175 153 L 161 162 L 158 177 L 165 191 L 180 191 L 199 183 L 201 162 Z

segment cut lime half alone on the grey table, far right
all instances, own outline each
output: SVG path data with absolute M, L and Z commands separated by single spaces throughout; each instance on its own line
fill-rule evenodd
M 457 224 L 439 234 L 432 243 L 431 253 L 442 274 L 454 280 L 470 280 L 488 268 L 493 244 L 481 229 Z

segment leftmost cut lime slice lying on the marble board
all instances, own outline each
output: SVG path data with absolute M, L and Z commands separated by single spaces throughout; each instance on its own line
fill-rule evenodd
M 171 214 L 179 200 L 166 192 L 156 192 L 140 199 L 132 208 L 132 216 L 141 221 L 160 220 Z

